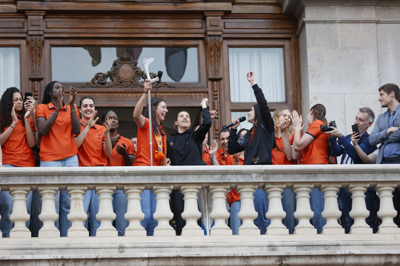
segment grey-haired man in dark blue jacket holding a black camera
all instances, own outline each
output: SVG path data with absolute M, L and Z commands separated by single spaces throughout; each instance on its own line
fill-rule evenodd
M 358 133 L 360 136 L 360 139 L 358 140 L 358 145 L 366 154 L 370 154 L 374 150 L 376 150 L 376 146 L 372 146 L 370 144 L 369 134 L 367 130 L 374 123 L 375 114 L 368 107 L 362 107 L 358 110 L 359 112 L 356 115 L 356 120 L 354 120 L 352 130 L 353 132 L 356 132 L 358 129 Z M 349 134 L 347 136 L 344 136 L 336 128 L 331 128 L 333 130 L 326 133 L 330 134 L 334 138 L 337 138 L 336 156 L 342 155 L 342 160 L 340 161 L 340 164 L 364 164 L 352 144 L 352 135 Z M 367 209 L 368 211 L 370 211 L 370 216 L 366 219 L 366 222 L 368 223 L 368 225 L 370 225 L 373 232 L 376 233 L 376 231 L 378 231 L 378 217 L 376 215 L 375 206 L 378 203 L 378 197 L 376 196 L 374 189 L 368 189 L 365 193 L 365 196 Z M 344 188 L 340 189 L 338 194 L 339 209 L 340 211 L 342 211 L 342 217 L 340 217 L 340 221 L 346 233 L 350 231 L 350 227 L 354 223 L 353 219 L 351 219 L 349 215 L 352 206 L 351 202 L 351 193 Z

